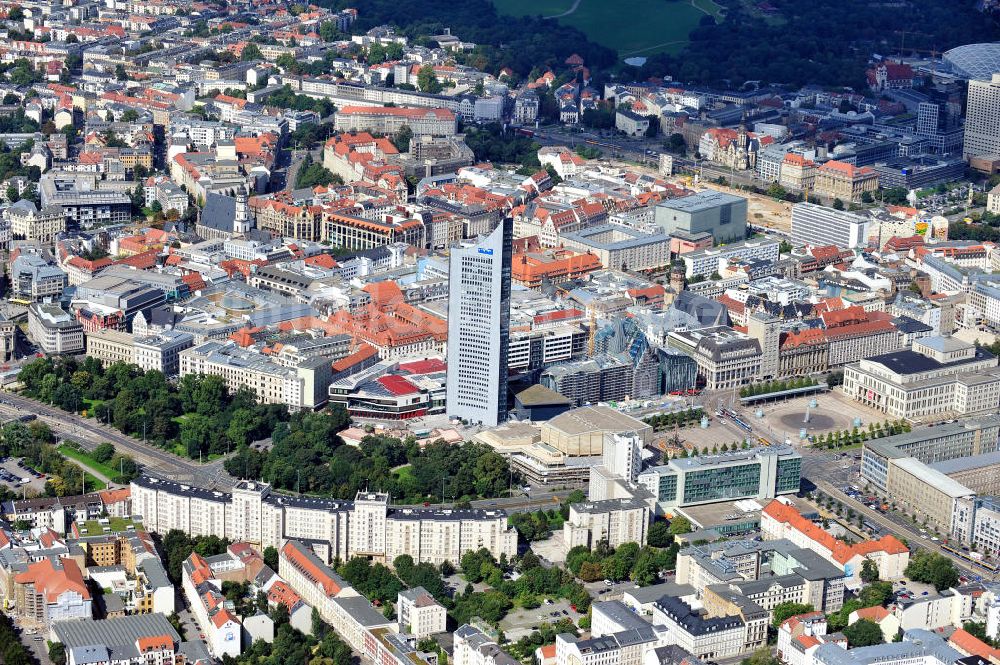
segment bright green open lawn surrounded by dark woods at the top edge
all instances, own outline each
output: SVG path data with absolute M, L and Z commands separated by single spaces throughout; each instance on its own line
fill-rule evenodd
M 501 14 L 512 16 L 550 16 L 572 6 L 572 2 L 562 0 L 493 2 Z M 616 49 L 619 56 L 626 58 L 680 51 L 705 12 L 718 16 L 719 8 L 712 0 L 580 0 L 576 11 L 559 21 L 578 28 L 592 41 Z

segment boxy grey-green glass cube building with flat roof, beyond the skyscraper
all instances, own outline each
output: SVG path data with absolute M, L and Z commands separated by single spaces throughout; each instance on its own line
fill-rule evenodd
M 747 200 L 714 190 L 657 204 L 654 223 L 667 235 L 711 233 L 718 243 L 746 238 Z

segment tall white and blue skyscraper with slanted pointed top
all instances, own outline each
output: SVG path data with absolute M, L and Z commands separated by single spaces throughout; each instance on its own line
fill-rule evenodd
M 494 426 L 507 418 L 510 264 L 514 221 L 451 248 L 448 416 Z

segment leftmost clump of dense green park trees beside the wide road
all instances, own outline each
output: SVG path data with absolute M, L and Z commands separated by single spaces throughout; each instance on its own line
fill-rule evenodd
M 286 406 L 260 404 L 246 389 L 231 394 L 220 376 L 189 374 L 174 384 L 135 365 L 61 357 L 28 363 L 19 378 L 30 397 L 164 448 L 179 447 L 194 459 L 246 446 L 288 419 Z

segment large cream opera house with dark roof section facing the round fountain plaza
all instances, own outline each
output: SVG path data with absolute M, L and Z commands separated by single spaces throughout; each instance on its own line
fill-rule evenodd
M 924 337 L 912 350 L 847 365 L 844 394 L 892 418 L 990 413 L 1000 405 L 997 358 L 953 337 Z

